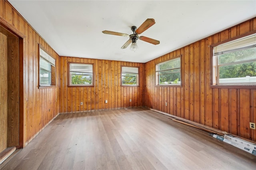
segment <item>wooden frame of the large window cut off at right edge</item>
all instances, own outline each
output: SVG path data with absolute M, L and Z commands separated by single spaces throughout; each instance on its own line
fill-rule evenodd
M 222 45 L 224 43 L 232 42 L 232 41 L 235 41 L 240 38 L 244 38 L 246 36 L 250 36 L 253 34 L 256 34 L 256 31 L 246 33 L 246 34 L 237 36 L 235 38 L 230 38 L 229 40 L 225 40 L 225 41 L 214 43 L 214 44 L 210 45 L 210 52 L 211 52 L 211 58 L 210 58 L 211 59 L 211 69 L 210 69 L 210 75 L 211 75 L 210 83 L 211 84 L 210 84 L 210 87 L 211 88 L 256 89 L 256 83 L 255 84 L 254 83 L 219 83 L 219 78 L 218 78 L 219 74 L 217 74 L 217 72 L 216 72 L 216 71 L 218 71 L 218 69 L 217 69 L 218 59 L 215 59 L 215 56 L 214 56 L 214 47 L 216 47 L 218 45 Z M 250 61 L 252 61 L 252 60 L 250 60 Z M 245 62 L 242 62 L 242 61 L 236 62 L 236 64 L 239 64 L 239 63 L 245 63 Z M 225 65 L 225 64 L 222 64 L 222 65 Z M 230 64 L 230 65 L 232 65 L 232 64 Z

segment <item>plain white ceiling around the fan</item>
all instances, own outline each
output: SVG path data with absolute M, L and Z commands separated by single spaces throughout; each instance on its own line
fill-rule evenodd
M 145 63 L 256 16 L 256 0 L 98 1 L 9 0 L 61 56 Z M 147 18 L 156 24 L 140 34 L 160 44 L 138 40 L 139 49 L 121 49 Z

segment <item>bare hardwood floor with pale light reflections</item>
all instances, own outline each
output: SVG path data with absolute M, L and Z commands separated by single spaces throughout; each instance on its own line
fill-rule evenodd
M 144 108 L 60 114 L 4 167 L 255 169 L 256 156 Z

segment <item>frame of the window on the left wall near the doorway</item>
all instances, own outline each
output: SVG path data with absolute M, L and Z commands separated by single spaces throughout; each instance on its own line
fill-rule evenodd
M 49 60 L 47 60 L 46 58 L 44 58 L 41 53 L 40 53 L 40 49 L 45 52 L 47 55 L 49 55 L 49 57 L 51 57 L 52 59 L 54 59 L 54 65 L 53 63 L 51 63 Z M 41 58 L 46 61 L 47 63 L 49 63 L 50 65 L 50 84 L 43 84 L 41 83 L 41 79 L 40 79 L 40 60 Z M 45 69 L 43 69 L 45 70 Z M 48 70 L 45 70 L 48 71 Z M 56 59 L 54 57 L 52 57 L 52 55 L 50 55 L 50 53 L 40 44 L 38 44 L 38 89 L 46 89 L 46 88 L 56 88 Z

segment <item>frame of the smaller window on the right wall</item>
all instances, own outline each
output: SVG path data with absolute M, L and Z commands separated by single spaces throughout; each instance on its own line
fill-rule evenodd
M 160 84 L 159 83 L 159 75 L 157 73 L 159 70 L 156 70 L 157 65 L 167 63 L 168 61 L 172 61 L 172 60 L 175 60 L 177 58 L 180 58 L 180 67 L 179 67 L 180 68 L 180 80 L 179 80 L 180 84 Z M 155 86 L 156 87 L 182 87 L 182 55 L 178 55 L 178 56 L 175 56 L 175 57 L 173 57 L 171 59 L 168 59 L 166 61 L 156 63 L 154 69 L 155 69 Z M 167 69 L 167 70 L 171 70 L 171 69 Z M 165 70 L 165 71 L 167 71 L 167 70 Z

